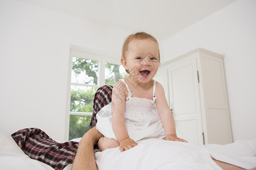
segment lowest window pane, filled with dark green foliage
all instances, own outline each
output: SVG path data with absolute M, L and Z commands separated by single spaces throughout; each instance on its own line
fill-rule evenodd
M 81 138 L 89 130 L 92 116 L 70 115 L 68 139 Z

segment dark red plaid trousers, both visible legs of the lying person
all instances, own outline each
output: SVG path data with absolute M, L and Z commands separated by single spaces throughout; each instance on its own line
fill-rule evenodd
M 111 102 L 112 86 L 98 88 L 93 100 L 93 115 L 90 128 L 96 126 L 96 114 L 102 107 Z M 44 131 L 28 128 L 16 131 L 11 135 L 23 152 L 32 159 L 46 163 L 55 169 L 64 169 L 73 163 L 79 142 L 59 143 L 53 141 Z

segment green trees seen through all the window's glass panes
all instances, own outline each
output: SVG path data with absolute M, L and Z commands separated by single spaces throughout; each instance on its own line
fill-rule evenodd
M 77 114 L 93 112 L 93 99 L 97 91 L 99 62 L 79 57 L 72 58 L 71 103 L 69 116 L 69 140 L 80 138 L 89 130 L 91 115 Z M 120 65 L 105 63 L 105 84 L 112 85 L 126 76 Z M 88 85 L 89 84 L 89 85 Z

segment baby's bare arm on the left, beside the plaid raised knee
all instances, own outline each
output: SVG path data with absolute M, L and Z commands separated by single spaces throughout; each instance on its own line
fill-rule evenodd
M 137 145 L 133 139 L 130 139 L 125 128 L 125 90 L 126 86 L 121 81 L 117 82 L 112 90 L 112 126 L 115 137 L 120 143 L 121 152 Z

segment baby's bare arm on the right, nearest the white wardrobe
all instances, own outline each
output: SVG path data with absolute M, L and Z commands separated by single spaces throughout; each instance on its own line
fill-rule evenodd
M 160 83 L 156 83 L 156 108 L 158 109 L 158 114 L 163 124 L 164 132 L 166 133 L 166 137 L 164 140 L 167 141 L 180 141 L 187 142 L 184 139 L 180 139 L 176 135 L 176 128 L 174 117 L 172 116 L 172 111 L 168 106 L 166 96 L 164 95 L 163 86 Z

